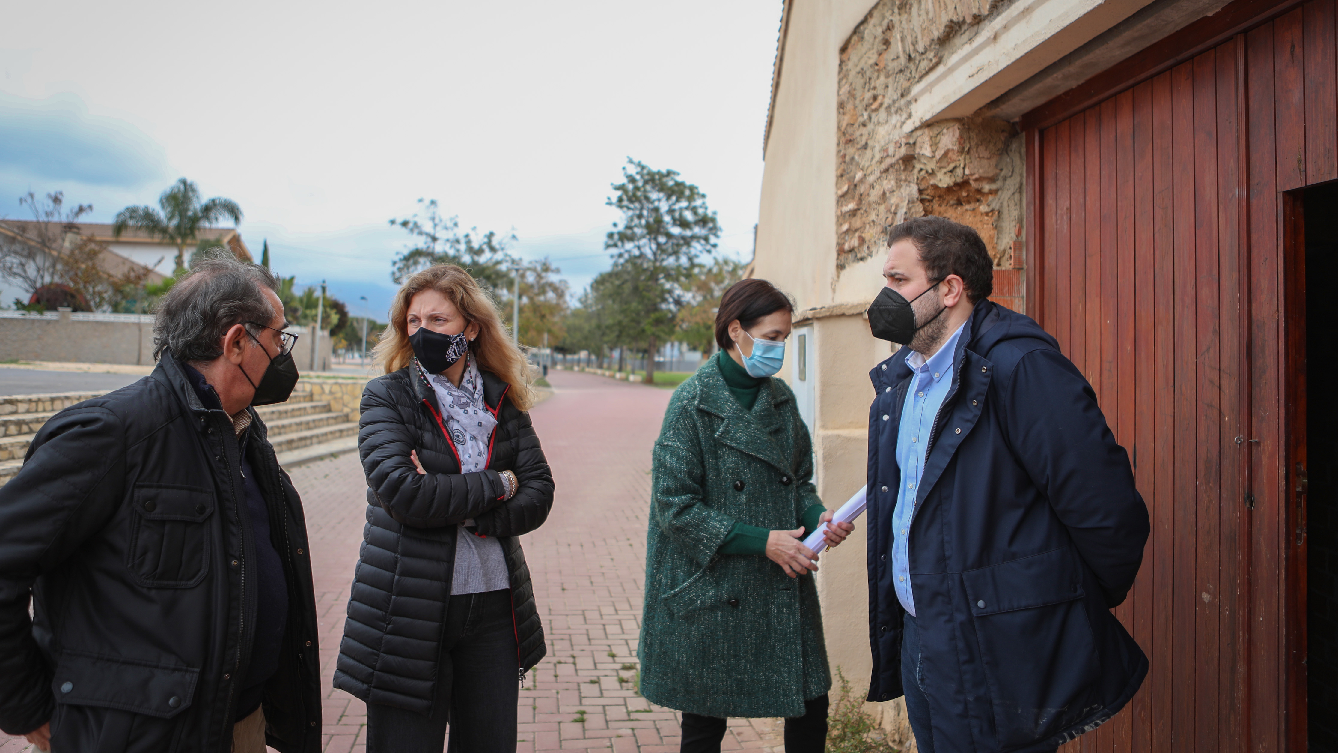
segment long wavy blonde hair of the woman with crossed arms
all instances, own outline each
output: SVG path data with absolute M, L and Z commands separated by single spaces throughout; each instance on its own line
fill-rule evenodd
M 479 335 L 470 343 L 470 352 L 478 359 L 479 368 L 491 371 L 511 385 L 507 393 L 511 402 L 520 410 L 530 410 L 534 405 L 534 390 L 530 387 L 530 363 L 524 352 L 507 335 L 492 296 L 480 288 L 468 272 L 454 264 L 428 267 L 404 280 L 404 285 L 391 301 L 391 326 L 372 350 L 376 363 L 387 374 L 411 363 L 413 347 L 409 346 L 408 336 L 409 301 L 427 289 L 444 295 L 467 323 L 479 326 Z

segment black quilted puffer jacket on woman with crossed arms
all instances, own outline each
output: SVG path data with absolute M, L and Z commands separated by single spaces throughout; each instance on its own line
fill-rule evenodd
M 367 527 L 334 687 L 371 703 L 431 713 L 456 525 L 471 517 L 506 553 L 518 674 L 543 658 L 543 627 L 516 536 L 549 517 L 553 474 L 530 414 L 507 399 L 508 387 L 483 371 L 483 399 L 498 426 L 486 469 L 475 473 L 460 473 L 436 395 L 416 363 L 373 379 L 363 391 L 357 445 L 369 486 Z M 411 450 L 428 473 L 417 473 Z M 520 482 L 506 501 L 502 470 Z

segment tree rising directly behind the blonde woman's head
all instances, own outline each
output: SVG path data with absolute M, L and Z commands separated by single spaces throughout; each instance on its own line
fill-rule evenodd
M 403 283 L 434 264 L 455 264 L 492 291 L 494 296 L 503 297 L 515 280 L 511 267 L 516 260 L 507 253 L 515 234 L 502 236 L 492 230 L 480 234 L 478 228 L 460 233 L 459 218 L 442 217 L 435 198 L 419 198 L 417 204 L 419 210 L 412 216 L 389 221 L 413 237 L 404 253 L 395 257 L 391 277 Z

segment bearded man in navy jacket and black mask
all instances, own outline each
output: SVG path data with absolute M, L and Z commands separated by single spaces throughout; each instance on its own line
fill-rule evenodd
M 906 695 L 923 753 L 1046 752 L 1133 697 L 1111 614 L 1148 512 L 1096 395 L 1030 318 L 989 300 L 975 230 L 888 232 L 870 374 L 870 701 Z

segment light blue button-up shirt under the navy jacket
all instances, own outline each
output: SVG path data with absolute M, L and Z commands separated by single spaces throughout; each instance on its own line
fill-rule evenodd
M 906 366 L 911 367 L 911 383 L 906 389 L 902 425 L 896 433 L 896 466 L 902 470 L 902 485 L 896 492 L 896 508 L 892 510 L 892 575 L 896 577 L 892 586 L 902 607 L 911 616 L 915 616 L 907 545 L 911 519 L 915 517 L 915 496 L 919 493 L 921 474 L 925 473 L 925 448 L 929 445 L 938 409 L 953 386 L 953 354 L 957 352 L 962 327 L 958 327 L 929 360 L 914 351 L 906 356 Z

